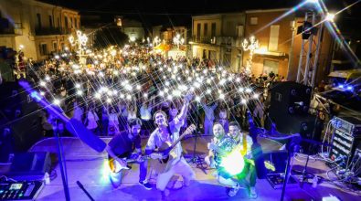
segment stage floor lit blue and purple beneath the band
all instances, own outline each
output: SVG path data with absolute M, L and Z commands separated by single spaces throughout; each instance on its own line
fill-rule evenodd
M 104 138 L 105 142 L 110 139 Z M 207 142 L 210 137 L 201 137 L 197 139 L 196 154 L 205 155 L 207 153 Z M 146 139 L 143 140 L 143 143 Z M 267 139 L 261 139 L 260 143 L 264 152 L 277 150 L 280 145 Z M 182 142 L 185 149 L 185 155 L 192 156 L 194 148 L 194 139 L 186 139 Z M 162 200 L 161 193 L 155 189 L 145 190 L 143 186 L 138 185 L 139 168 L 133 164 L 132 171 L 127 171 L 122 179 L 122 185 L 119 188 L 113 188 L 109 181 L 109 170 L 107 166 L 105 152 L 96 153 L 86 144 L 81 143 L 76 138 L 63 139 L 64 153 L 67 160 L 67 173 L 69 181 L 69 192 L 71 200 L 89 200 L 80 187 L 76 184 L 80 181 L 95 200 Z M 34 145 L 33 152 L 56 153 L 57 145 L 54 139 L 46 139 Z M 295 168 L 301 168 L 305 162 L 304 158 L 298 157 L 295 160 Z M 214 170 L 207 170 L 206 173 L 196 168 L 196 164 L 191 164 L 196 172 L 196 181 L 188 187 L 178 190 L 170 190 L 171 194 L 166 200 L 239 200 L 249 199 L 248 191 L 240 189 L 237 196 L 229 197 L 226 188 L 219 185 L 216 178 L 212 175 Z M 309 172 L 317 173 L 325 177 L 325 172 L 329 169 L 321 161 L 310 160 Z M 57 177 L 46 185 L 37 196 L 37 200 L 65 200 L 63 185 L 58 165 L 56 166 Z M 155 183 L 154 175 L 148 171 L 148 178 L 151 183 Z M 177 183 L 181 184 L 181 183 Z M 280 200 L 281 189 L 273 189 L 266 179 L 258 179 L 256 189 L 258 198 L 256 200 Z M 324 196 L 337 196 L 340 200 L 357 200 L 355 193 L 347 192 L 334 185 L 323 183 L 313 188 L 311 185 L 304 185 L 303 189 L 299 186 L 287 187 L 285 200 L 322 200 Z

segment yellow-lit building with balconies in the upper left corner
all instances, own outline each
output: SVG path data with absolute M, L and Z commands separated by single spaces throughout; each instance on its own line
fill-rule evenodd
M 78 11 L 36 0 L 0 0 L 0 46 L 43 60 L 51 52 L 69 48 L 69 34 L 80 28 Z

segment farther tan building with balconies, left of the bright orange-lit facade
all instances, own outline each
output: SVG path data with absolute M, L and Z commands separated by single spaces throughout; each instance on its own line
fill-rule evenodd
M 245 14 L 215 14 L 192 17 L 190 44 L 193 57 L 227 63 L 231 71 L 242 66 L 241 41 Z

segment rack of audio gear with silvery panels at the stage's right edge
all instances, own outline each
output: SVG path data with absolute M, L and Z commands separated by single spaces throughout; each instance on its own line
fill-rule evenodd
M 348 169 L 356 147 L 361 143 L 361 122 L 353 117 L 334 117 L 330 159 Z

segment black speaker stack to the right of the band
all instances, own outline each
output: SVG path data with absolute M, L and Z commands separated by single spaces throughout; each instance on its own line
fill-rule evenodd
M 321 133 L 314 132 L 318 125 L 315 116 L 308 113 L 312 89 L 303 84 L 276 82 L 271 88 L 269 116 L 276 123 L 278 132 L 300 133 L 303 138 L 320 141 Z M 316 153 L 312 144 L 302 143 L 303 153 Z

